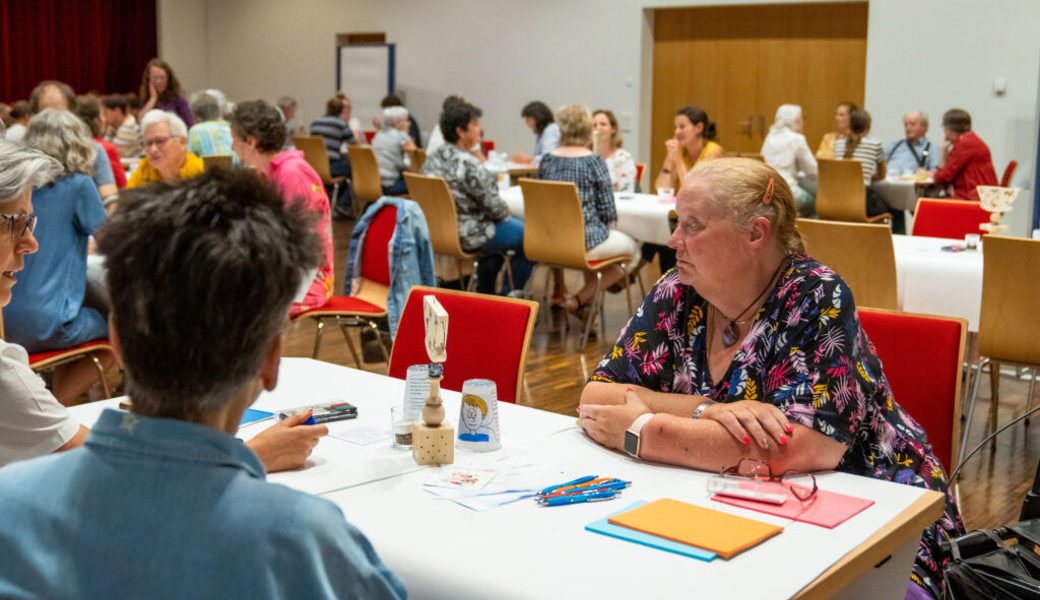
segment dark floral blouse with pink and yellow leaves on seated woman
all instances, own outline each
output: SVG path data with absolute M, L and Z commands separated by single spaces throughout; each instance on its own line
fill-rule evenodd
M 590 381 L 720 402 L 770 402 L 846 445 L 836 470 L 946 494 L 945 512 L 925 530 L 916 565 L 941 585 L 942 565 L 933 555 L 944 536 L 964 526 L 925 431 L 892 398 L 841 278 L 808 256 L 794 257 L 718 384 L 705 353 L 707 307 L 675 269 L 668 271 Z

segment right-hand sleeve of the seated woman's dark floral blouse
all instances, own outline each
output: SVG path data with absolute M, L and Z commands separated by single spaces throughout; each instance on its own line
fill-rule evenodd
M 849 286 L 829 269 L 807 279 L 812 283 L 797 292 L 801 302 L 788 302 L 779 315 L 780 354 L 766 370 L 766 386 L 788 419 L 852 446 L 866 390 L 880 372 L 872 372 L 877 362 L 861 351 L 865 344 Z

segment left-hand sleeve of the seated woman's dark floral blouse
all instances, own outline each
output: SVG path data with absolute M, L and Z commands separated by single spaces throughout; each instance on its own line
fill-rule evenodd
M 599 362 L 590 382 L 634 384 L 671 392 L 675 386 L 677 358 L 674 340 L 685 340 L 686 318 L 680 318 L 686 288 L 675 271 L 667 273 L 650 290 L 621 336 Z

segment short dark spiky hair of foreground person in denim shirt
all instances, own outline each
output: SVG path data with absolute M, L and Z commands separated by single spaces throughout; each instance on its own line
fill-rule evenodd
M 135 413 L 200 421 L 257 376 L 324 262 L 314 223 L 244 168 L 124 192 L 96 239 Z

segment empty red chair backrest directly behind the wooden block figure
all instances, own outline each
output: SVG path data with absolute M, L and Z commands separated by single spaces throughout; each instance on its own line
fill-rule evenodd
M 422 311 L 422 298 L 427 295 L 437 296 L 448 313 L 448 359 L 441 386 L 461 391 L 466 380 L 491 380 L 499 400 L 516 402 L 538 314 L 538 303 L 531 301 L 413 287 L 397 324 L 390 376 L 404 380 L 409 366 L 430 362 Z

